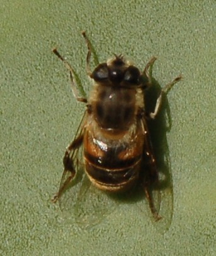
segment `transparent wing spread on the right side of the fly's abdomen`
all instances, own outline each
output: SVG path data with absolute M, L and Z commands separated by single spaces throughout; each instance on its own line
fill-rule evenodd
M 169 154 L 165 154 L 161 150 L 160 154 L 155 157 L 153 150 L 155 147 L 159 147 L 159 143 L 153 143 L 152 136 L 149 134 L 149 129 L 145 119 L 142 119 L 144 127 L 144 168 L 147 171 L 145 173 L 145 195 L 148 197 L 149 193 L 149 205 L 154 216 L 154 220 L 157 222 L 157 228 L 161 232 L 166 231 L 172 220 L 173 216 L 173 186 L 171 182 L 171 173 L 169 166 Z M 161 145 L 159 147 L 162 148 Z

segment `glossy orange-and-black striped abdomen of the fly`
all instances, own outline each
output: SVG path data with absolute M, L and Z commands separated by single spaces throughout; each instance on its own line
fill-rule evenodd
M 91 182 L 101 190 L 113 192 L 130 188 L 139 176 L 142 145 L 140 136 L 128 143 L 120 140 L 105 143 L 86 131 L 84 161 Z

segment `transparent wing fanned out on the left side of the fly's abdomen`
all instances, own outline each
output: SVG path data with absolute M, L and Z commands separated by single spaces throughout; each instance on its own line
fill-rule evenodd
M 64 172 L 60 188 L 53 201 L 59 200 L 60 209 L 72 214 L 81 228 L 99 224 L 115 210 L 118 200 L 98 190 L 84 173 L 82 139 L 87 113 L 84 114 L 73 142 L 64 157 Z

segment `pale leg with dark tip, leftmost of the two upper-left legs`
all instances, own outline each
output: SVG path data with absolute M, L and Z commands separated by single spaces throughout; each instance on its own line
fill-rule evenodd
M 63 61 L 65 67 L 67 68 L 67 70 L 69 70 L 70 72 L 70 79 L 71 79 L 71 88 L 72 88 L 72 93 L 74 94 L 74 97 L 76 98 L 77 101 L 81 101 L 81 102 L 88 102 L 86 98 L 84 97 L 80 97 L 78 95 L 77 92 L 77 86 L 76 83 L 74 82 L 74 78 L 73 76 L 76 78 L 76 73 L 74 71 L 74 69 L 72 68 L 72 66 L 60 55 L 60 53 L 57 51 L 57 49 L 53 49 L 52 50 L 54 52 L 54 54 L 61 60 Z

